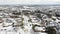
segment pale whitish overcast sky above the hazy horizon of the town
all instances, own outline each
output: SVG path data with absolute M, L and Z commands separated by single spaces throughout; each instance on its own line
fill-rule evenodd
M 0 4 L 60 4 L 60 0 L 0 0 Z

